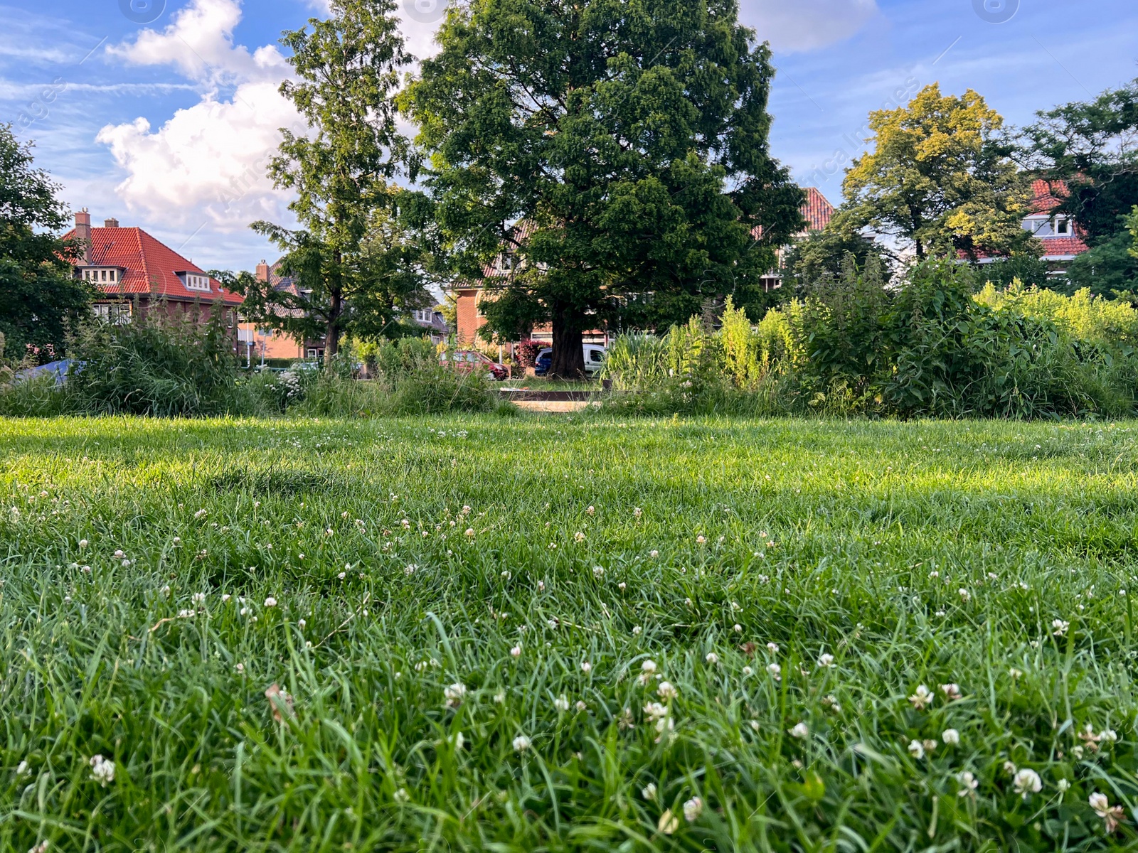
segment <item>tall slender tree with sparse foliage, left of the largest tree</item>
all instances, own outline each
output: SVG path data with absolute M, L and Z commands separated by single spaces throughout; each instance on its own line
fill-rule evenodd
M 330 7 L 327 20 L 312 18 L 281 38 L 296 72 L 281 93 L 311 132 L 282 131 L 269 174 L 277 187 L 296 191 L 289 207 L 303 227 L 253 224 L 286 251 L 283 266 L 296 279 L 296 292 L 262 287 L 251 276 L 240 281 L 257 322 L 310 330 L 319 324 L 329 361 L 340 337 L 368 314 L 353 306 L 376 297 L 374 254 L 364 241 L 377 226 L 377 210 L 389 210 L 397 194 L 389 182 L 406 140 L 393 96 L 401 69 L 412 60 L 394 0 L 331 0 Z M 299 313 L 306 316 L 295 316 Z

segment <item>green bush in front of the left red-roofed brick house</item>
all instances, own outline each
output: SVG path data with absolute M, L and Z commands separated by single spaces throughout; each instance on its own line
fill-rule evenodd
M 67 376 L 72 411 L 163 417 L 237 412 L 232 332 L 224 312 L 198 323 L 195 310 L 171 317 L 162 303 L 131 323 L 90 322 L 71 343 L 80 362 Z

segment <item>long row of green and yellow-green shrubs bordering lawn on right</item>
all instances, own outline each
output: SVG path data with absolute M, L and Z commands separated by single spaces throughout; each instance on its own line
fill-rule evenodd
M 871 258 L 770 310 L 757 330 L 728 310 L 667 337 L 620 338 L 608 374 L 634 408 L 875 416 L 1125 416 L 1138 394 L 1138 310 L 1080 291 L 974 295 L 975 271 L 916 267 L 887 285 Z M 652 403 L 646 406 L 645 400 Z M 669 409 L 669 406 L 671 407 Z

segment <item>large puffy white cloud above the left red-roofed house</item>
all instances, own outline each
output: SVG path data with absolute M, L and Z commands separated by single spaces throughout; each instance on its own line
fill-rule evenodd
M 240 84 L 229 101 L 206 94 L 157 131 L 135 118 L 107 125 L 97 141 L 126 172 L 115 191 L 132 212 L 167 225 L 234 232 L 286 216 L 288 194 L 265 175 L 284 126 L 302 130 L 292 105 L 277 84 L 254 82 Z

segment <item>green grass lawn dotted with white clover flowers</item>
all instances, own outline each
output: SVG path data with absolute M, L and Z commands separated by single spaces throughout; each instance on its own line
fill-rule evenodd
M 0 420 L 0 850 L 1132 846 L 1135 437 Z

